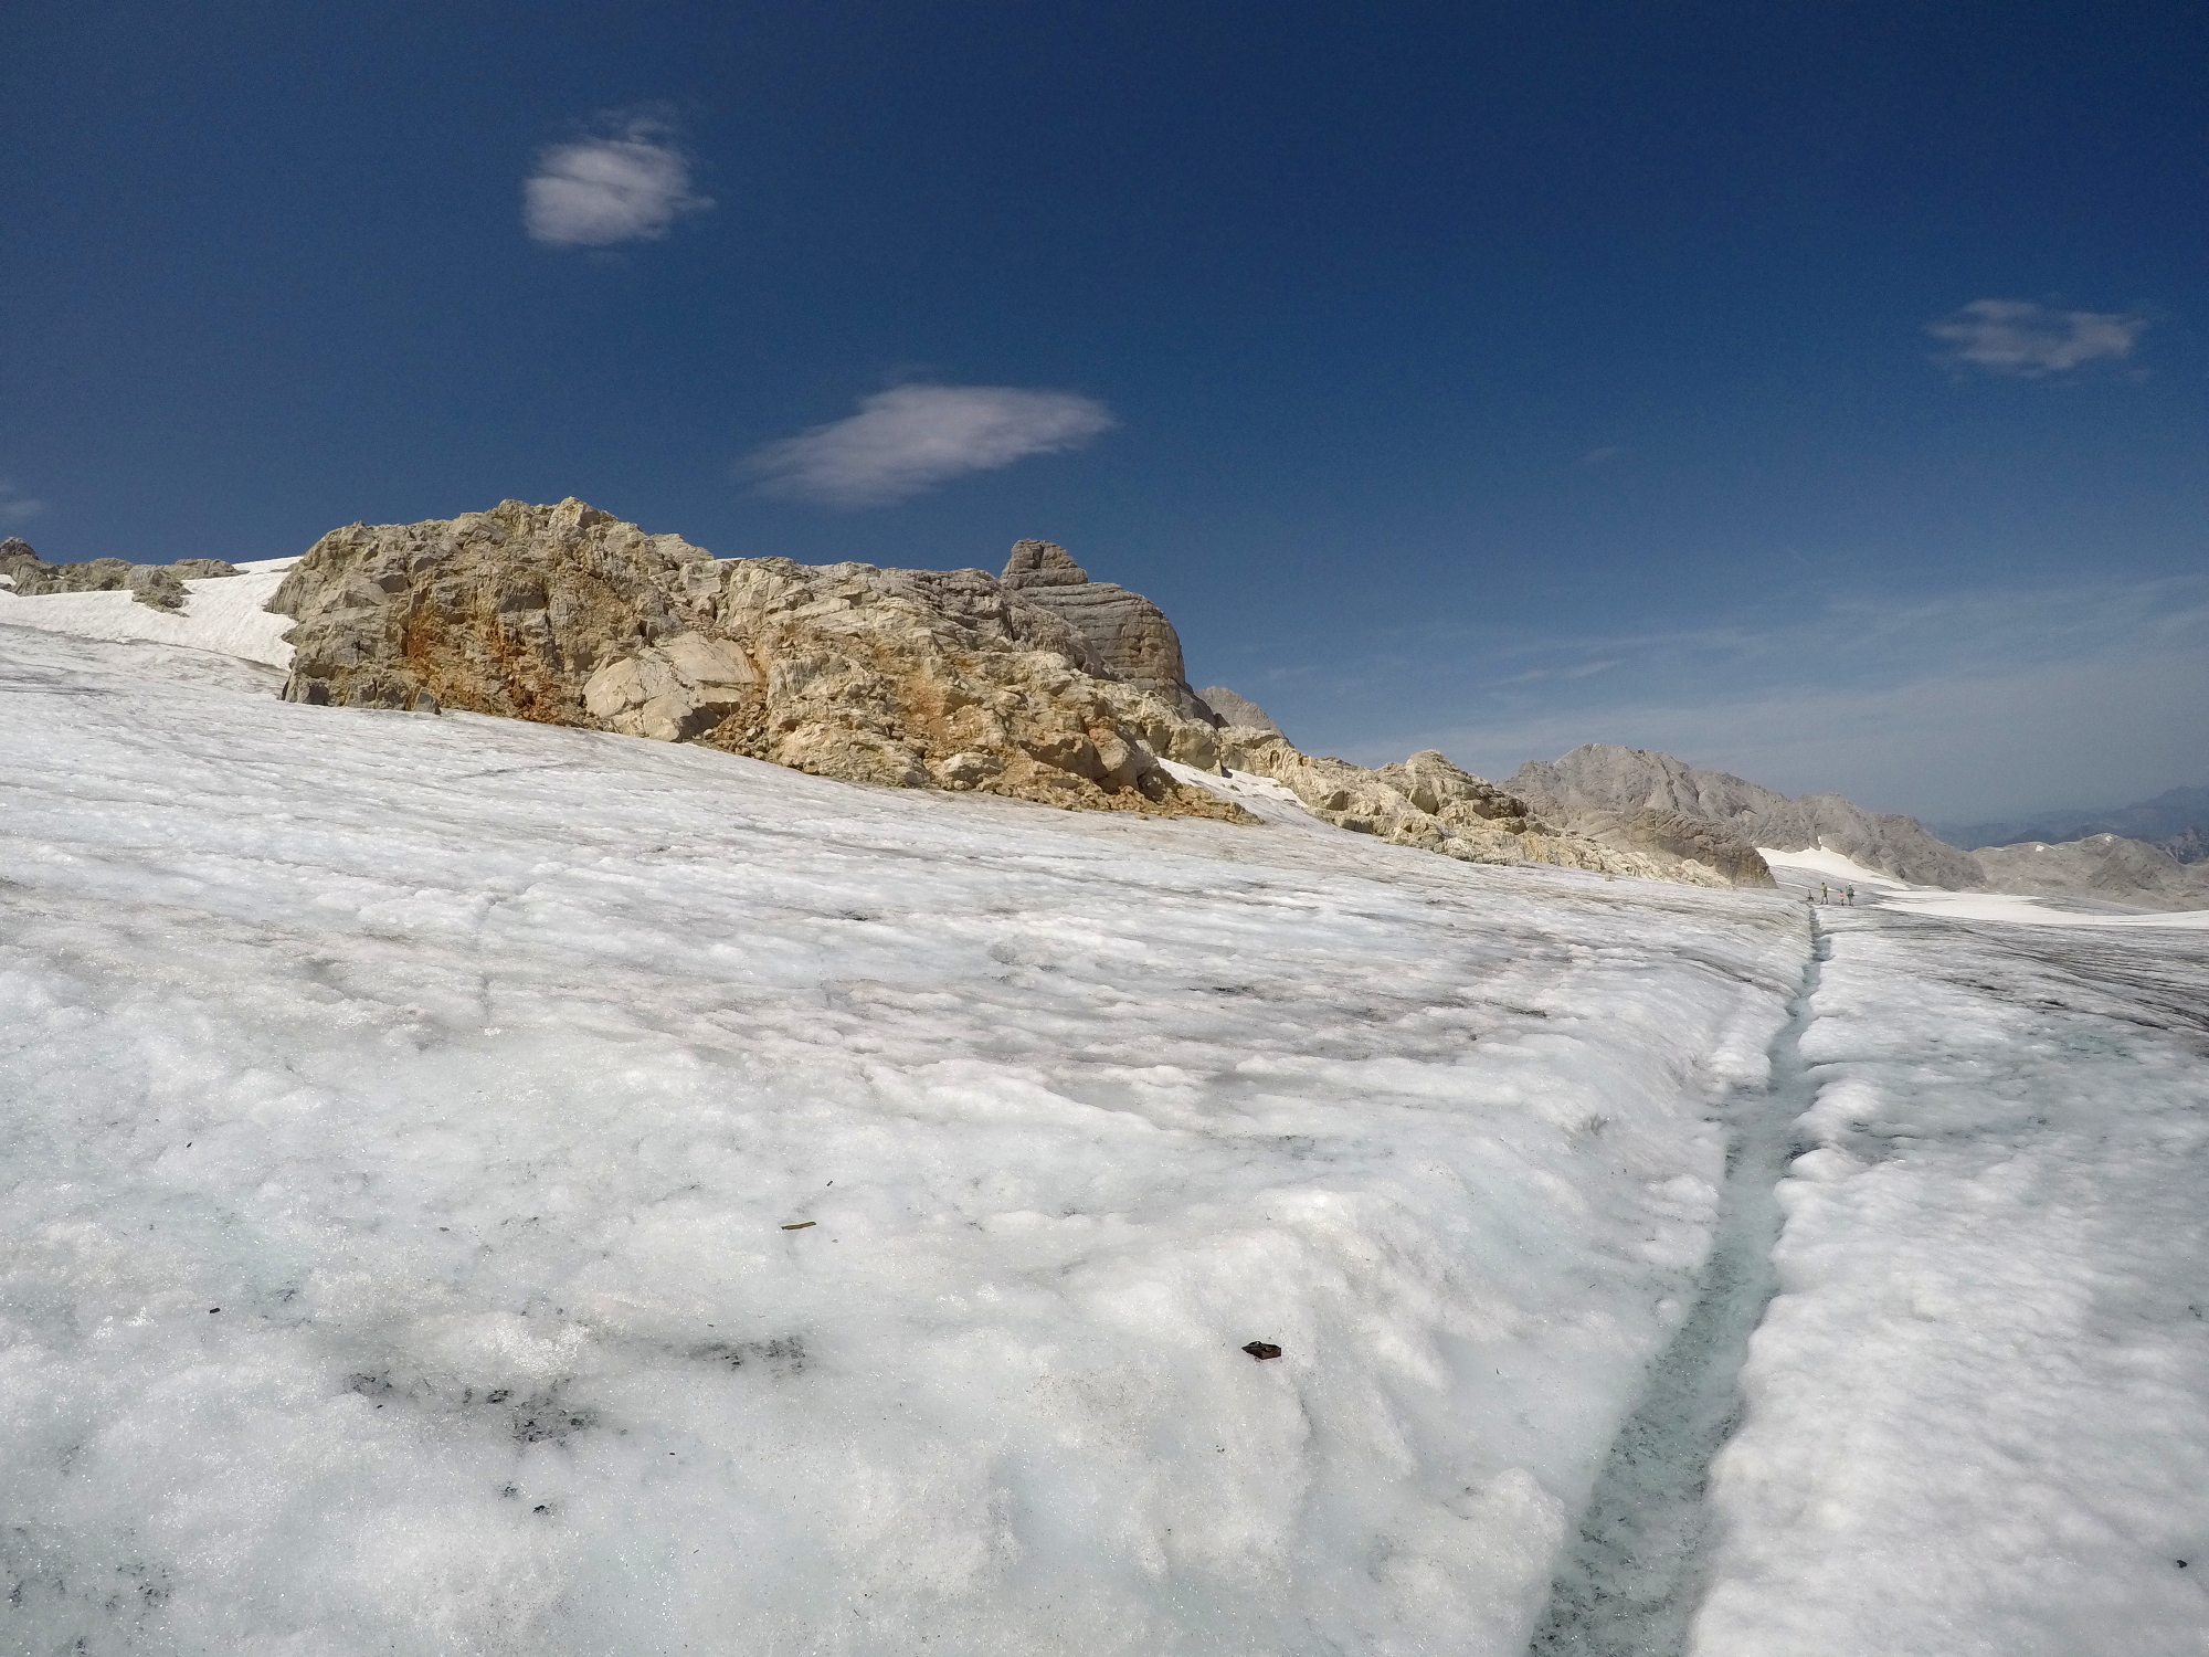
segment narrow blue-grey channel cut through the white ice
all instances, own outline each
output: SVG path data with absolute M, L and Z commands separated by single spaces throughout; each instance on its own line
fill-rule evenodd
M 1610 1445 L 1531 1657 L 1679 1657 L 1688 1646 L 1710 1553 L 1710 1463 L 1741 1425 L 1741 1368 L 1778 1286 L 1778 1182 L 1807 1149 L 1794 1142 L 1816 1094 L 1803 1034 L 1829 948 L 1811 915 L 1811 954 L 1772 1041 L 1769 1080 L 1725 1105 L 1725 1186 L 1697 1301 Z

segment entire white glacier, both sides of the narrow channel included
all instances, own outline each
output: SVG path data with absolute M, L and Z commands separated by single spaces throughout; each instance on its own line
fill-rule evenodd
M 1219 787 L 0 625 L 9 1642 L 2200 1650 L 2198 932 Z

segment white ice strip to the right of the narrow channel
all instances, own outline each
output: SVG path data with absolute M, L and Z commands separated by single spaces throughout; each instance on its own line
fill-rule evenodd
M 1692 1650 L 2209 1650 L 2209 948 L 1820 926 Z

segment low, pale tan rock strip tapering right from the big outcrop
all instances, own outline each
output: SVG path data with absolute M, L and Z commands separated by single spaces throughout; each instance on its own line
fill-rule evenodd
M 1299 753 L 1286 738 L 1230 727 L 1222 753 L 1237 771 L 1283 784 L 1314 817 L 1341 828 L 1420 846 L 1469 864 L 1555 864 L 1602 875 L 1668 879 L 1688 886 L 1769 886 L 1756 859 L 1754 877 L 1661 846 L 1608 846 L 1537 817 L 1524 798 L 1460 771 L 1427 749 L 1409 760 L 1365 769 L 1347 760 Z

